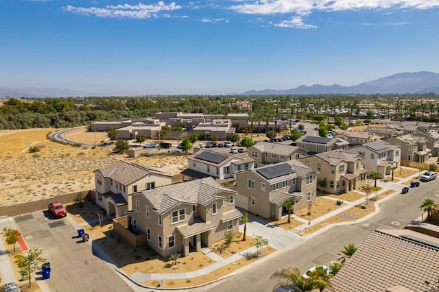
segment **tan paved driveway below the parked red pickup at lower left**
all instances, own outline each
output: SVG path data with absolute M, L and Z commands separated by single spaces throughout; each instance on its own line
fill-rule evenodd
M 39 211 L 14 221 L 27 247 L 42 248 L 50 263 L 50 279 L 38 281 L 43 291 L 132 291 L 108 263 L 93 255 L 88 242 L 76 238 L 67 218 L 52 219 Z

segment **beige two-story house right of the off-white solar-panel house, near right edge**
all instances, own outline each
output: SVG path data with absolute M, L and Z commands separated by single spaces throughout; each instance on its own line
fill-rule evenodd
M 427 148 L 427 139 L 407 134 L 386 141 L 389 144 L 401 147 L 401 161 L 425 162 L 429 158 L 430 149 Z

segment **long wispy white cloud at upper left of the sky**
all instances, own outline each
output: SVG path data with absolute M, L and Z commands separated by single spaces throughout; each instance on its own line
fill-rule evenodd
M 91 7 L 82 8 L 67 5 L 63 7 L 64 10 L 82 15 L 95 15 L 98 17 L 112 17 L 123 19 L 149 19 L 151 17 L 158 17 L 160 12 L 169 12 L 179 10 L 182 7 L 172 2 L 166 5 L 163 1 L 158 1 L 156 4 L 143 4 L 137 5 L 119 4 L 119 5 L 106 5 L 104 8 Z M 164 14 L 165 17 L 169 17 L 169 14 Z

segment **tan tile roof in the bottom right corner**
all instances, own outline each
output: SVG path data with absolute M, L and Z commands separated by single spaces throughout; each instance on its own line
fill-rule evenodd
M 428 239 L 427 239 L 428 237 Z M 324 291 L 382 292 L 398 286 L 435 291 L 439 279 L 439 243 L 412 230 L 374 230 Z M 397 291 L 397 290 L 396 290 Z

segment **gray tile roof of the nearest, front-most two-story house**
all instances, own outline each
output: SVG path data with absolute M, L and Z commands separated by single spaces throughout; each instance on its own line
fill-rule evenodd
M 220 192 L 237 193 L 230 188 L 224 188 L 211 177 L 141 191 L 160 214 L 181 203 L 206 206 L 215 199 L 226 199 L 219 195 Z

